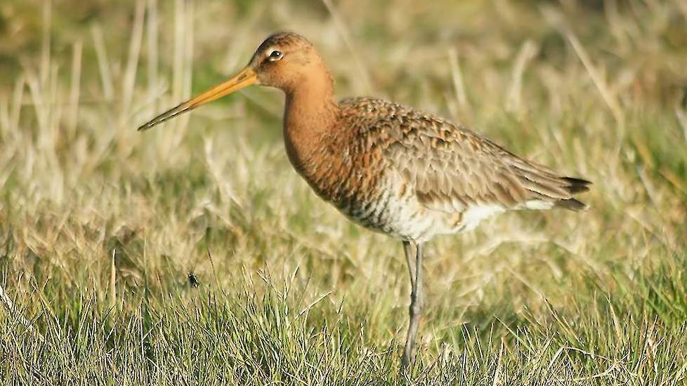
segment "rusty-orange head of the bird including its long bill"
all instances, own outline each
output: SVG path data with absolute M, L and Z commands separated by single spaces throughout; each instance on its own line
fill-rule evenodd
M 183 112 L 188 112 L 252 84 L 276 87 L 285 93 L 290 93 L 296 85 L 308 81 L 306 78 L 309 74 L 322 72 L 324 68 L 317 50 L 303 36 L 292 32 L 273 34 L 263 41 L 248 65 L 238 74 L 160 114 L 140 126 L 138 130 L 148 130 Z M 326 73 L 326 70 L 324 72 Z

